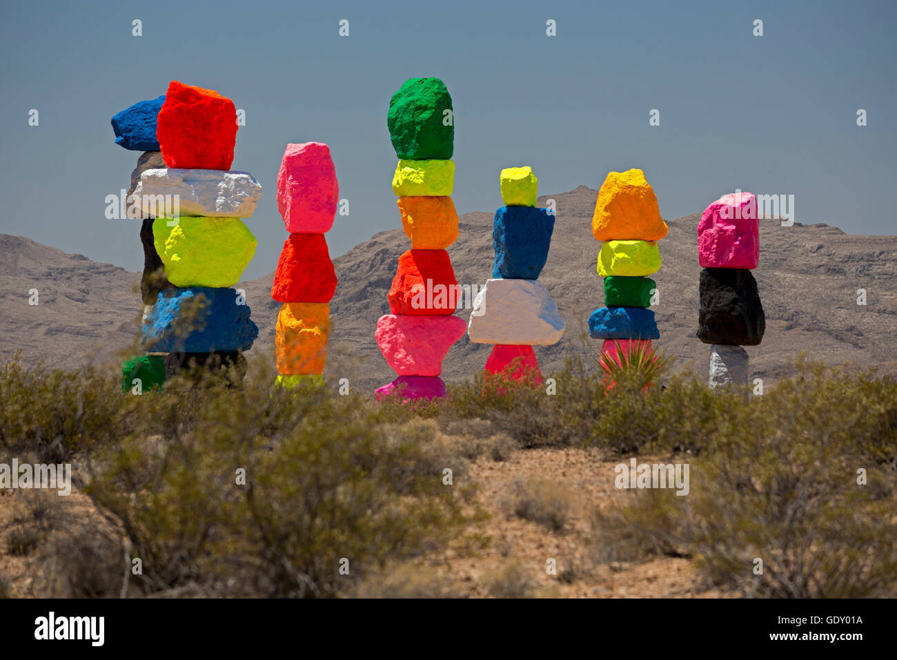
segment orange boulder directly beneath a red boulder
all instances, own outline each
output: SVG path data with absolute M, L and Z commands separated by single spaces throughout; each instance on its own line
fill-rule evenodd
M 277 373 L 321 374 L 327 360 L 330 305 L 284 303 L 277 315 Z

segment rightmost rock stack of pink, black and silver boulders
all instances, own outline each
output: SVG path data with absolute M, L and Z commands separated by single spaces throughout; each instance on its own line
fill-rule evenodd
M 737 192 L 704 209 L 698 224 L 701 312 L 698 339 L 710 344 L 710 388 L 747 387 L 743 346 L 757 346 L 766 317 L 751 270 L 760 260 L 757 198 Z

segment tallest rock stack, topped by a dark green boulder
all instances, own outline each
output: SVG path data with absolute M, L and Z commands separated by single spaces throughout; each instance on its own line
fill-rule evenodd
M 377 321 L 374 339 L 398 377 L 377 397 L 445 396 L 442 360 L 464 335 L 465 322 L 452 314 L 457 281 L 448 248 L 458 235 L 451 200 L 455 127 L 451 96 L 439 78 L 410 78 L 389 101 L 389 137 L 399 158 L 393 176 L 411 250 L 398 259 L 389 289 L 389 310 Z

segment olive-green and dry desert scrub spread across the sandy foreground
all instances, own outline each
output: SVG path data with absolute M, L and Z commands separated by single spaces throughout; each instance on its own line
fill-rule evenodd
M 13 362 L 0 370 L 0 452 L 72 462 L 74 497 L 93 517 L 64 513 L 65 497 L 4 494 L 0 509 L 15 511 L 0 519 L 0 553 L 24 562 L 34 595 L 455 597 L 482 584 L 528 596 L 538 571 L 512 553 L 468 585 L 427 558 L 505 542 L 489 538 L 472 465 L 507 470 L 532 448 L 588 446 L 691 465 L 686 497 L 602 500 L 589 534 L 599 568 L 676 558 L 730 594 L 893 595 L 897 383 L 819 365 L 795 373 L 747 399 L 659 372 L 647 389 L 645 374 L 626 373 L 608 389 L 595 365 L 570 362 L 545 374 L 553 395 L 547 380 L 478 378 L 407 405 L 338 396 L 331 383 L 276 388 L 259 365 L 238 387 L 191 374 L 133 396 L 114 370 Z M 557 473 L 508 483 L 515 524 L 573 535 L 577 507 Z M 576 559 L 548 584 L 595 575 Z M 22 584 L 0 579 L 7 594 Z

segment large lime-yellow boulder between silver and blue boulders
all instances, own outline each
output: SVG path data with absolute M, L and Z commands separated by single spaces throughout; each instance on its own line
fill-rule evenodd
M 165 275 L 179 287 L 233 286 L 256 253 L 256 237 L 236 217 L 156 218 L 152 236 Z

